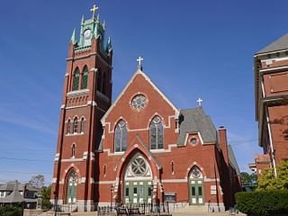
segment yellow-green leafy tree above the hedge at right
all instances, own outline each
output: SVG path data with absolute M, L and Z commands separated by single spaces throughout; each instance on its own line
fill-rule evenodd
M 279 166 L 276 166 L 276 170 L 276 178 L 272 168 L 265 169 L 259 175 L 257 190 L 288 190 L 288 161 L 282 161 Z

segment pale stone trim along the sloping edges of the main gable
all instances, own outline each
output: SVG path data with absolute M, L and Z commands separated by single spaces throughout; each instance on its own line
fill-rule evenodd
M 163 94 L 158 88 L 157 85 L 155 85 L 150 78 L 140 69 L 138 68 L 136 70 L 136 72 L 133 74 L 133 76 L 130 77 L 130 80 L 128 81 L 127 85 L 125 85 L 125 87 L 122 89 L 121 93 L 118 95 L 118 97 L 116 98 L 116 100 L 112 103 L 112 105 L 110 106 L 110 108 L 108 109 L 108 111 L 103 115 L 102 119 L 101 119 L 101 123 L 104 126 L 105 124 L 105 119 L 107 117 L 107 115 L 112 111 L 113 107 L 116 105 L 116 103 L 119 101 L 119 99 L 121 98 L 121 95 L 125 93 L 126 89 L 129 87 L 129 85 L 133 82 L 133 79 L 135 78 L 135 76 L 137 75 L 141 75 L 144 76 L 144 78 L 148 81 L 148 83 L 150 85 L 153 86 L 153 88 L 158 92 L 158 94 L 161 94 L 164 98 L 164 100 L 166 101 L 166 103 L 168 103 L 174 110 L 175 110 L 175 115 L 179 114 L 178 109 L 175 107 L 175 105 L 169 101 L 169 99 L 166 97 L 165 94 Z

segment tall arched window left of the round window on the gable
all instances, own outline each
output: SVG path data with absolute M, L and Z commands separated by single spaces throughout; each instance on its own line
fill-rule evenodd
M 127 128 L 125 121 L 119 121 L 114 131 L 115 151 L 121 152 L 127 149 Z

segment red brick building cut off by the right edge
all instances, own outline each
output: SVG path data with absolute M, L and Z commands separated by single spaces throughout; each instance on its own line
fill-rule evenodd
M 288 34 L 255 54 L 254 71 L 259 146 L 275 169 L 288 158 Z

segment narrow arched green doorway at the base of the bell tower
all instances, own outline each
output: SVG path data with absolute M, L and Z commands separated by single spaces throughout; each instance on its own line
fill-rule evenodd
M 74 170 L 72 170 L 67 176 L 67 203 L 76 203 L 76 192 L 77 192 L 77 175 Z

